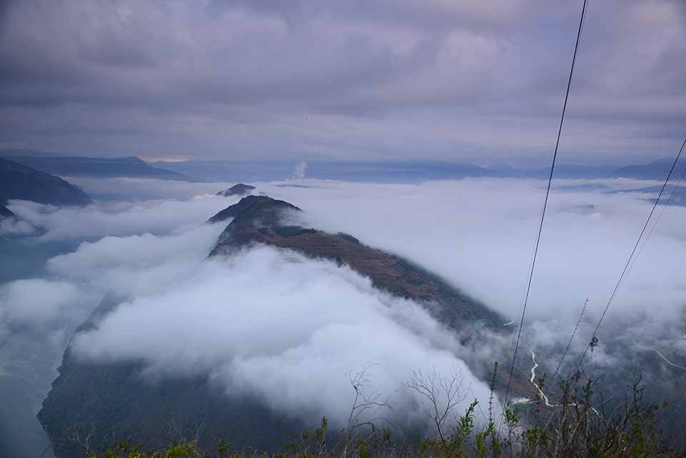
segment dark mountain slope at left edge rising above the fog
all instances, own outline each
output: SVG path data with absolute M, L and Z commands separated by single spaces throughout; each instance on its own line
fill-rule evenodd
M 0 159 L 0 194 L 52 205 L 87 205 L 89 196 L 58 176 Z

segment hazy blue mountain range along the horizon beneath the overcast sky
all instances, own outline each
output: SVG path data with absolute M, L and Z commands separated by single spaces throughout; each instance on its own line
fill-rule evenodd
M 64 156 L 30 149 L 0 150 L 0 157 L 34 169 L 61 176 L 156 178 L 179 181 L 279 181 L 294 178 L 292 162 L 199 160 L 156 161 L 146 164 L 136 156 L 106 159 Z M 557 179 L 665 179 L 673 159 L 660 159 L 644 165 L 582 166 L 558 164 Z M 680 166 L 683 169 L 683 166 Z M 422 183 L 464 178 L 548 179 L 550 167 L 534 171 L 515 169 L 508 164 L 486 168 L 452 161 L 313 161 L 304 169 L 307 178 L 373 183 Z M 681 170 L 683 171 L 683 170 Z M 679 171 L 679 174 L 681 173 Z M 675 171 L 676 173 L 676 171 Z

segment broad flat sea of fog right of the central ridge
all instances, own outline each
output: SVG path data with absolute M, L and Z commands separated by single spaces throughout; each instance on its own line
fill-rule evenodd
M 525 291 L 544 182 L 306 183 L 316 187 L 317 193 L 267 184 L 262 189 L 299 202 L 312 226 L 356 234 L 366 244 L 403 254 L 489 307 L 516 316 Z M 595 184 L 609 189 L 643 186 L 631 180 Z M 528 306 L 532 320 L 564 317 L 575 322 L 585 299 L 589 299 L 587 314 L 599 317 L 652 208 L 646 197 L 553 191 Z M 685 239 L 676 228 L 685 217 L 686 211 L 675 206 L 662 214 L 610 312 L 631 314 L 651 304 L 656 319 L 669 319 L 683 307 L 684 281 L 680 269 L 669 260 L 676 259 L 675 249 L 684 247 Z

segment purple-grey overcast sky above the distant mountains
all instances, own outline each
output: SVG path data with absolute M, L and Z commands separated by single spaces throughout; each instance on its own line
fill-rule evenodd
M 582 1 L 22 0 L 0 148 L 549 166 Z M 560 161 L 674 156 L 686 4 L 591 1 Z

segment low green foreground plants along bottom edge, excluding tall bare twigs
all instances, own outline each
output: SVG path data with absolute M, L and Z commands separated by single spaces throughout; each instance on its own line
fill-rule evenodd
M 474 426 L 476 404 L 472 403 L 446 437 L 406 437 L 397 442 L 390 429 L 379 429 L 350 440 L 345 434 L 329 431 L 324 418 L 314 432 L 288 435 L 278 451 L 239 452 L 222 442 L 215 448 L 199 449 L 194 442 L 185 441 L 141 451 L 142 444 L 134 447 L 129 441 L 119 441 L 104 454 L 85 453 L 98 458 L 686 457 L 682 443 L 656 433 L 650 412 L 637 406 L 627 409 L 622 421 L 593 420 L 582 407 L 560 423 L 527 427 L 517 409 L 507 409 L 497 432 L 493 422 L 484 429 Z

